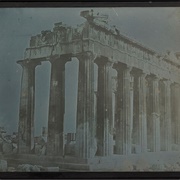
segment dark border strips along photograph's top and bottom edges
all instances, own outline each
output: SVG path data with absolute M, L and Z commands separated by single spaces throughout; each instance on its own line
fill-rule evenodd
M 180 1 L 0 1 L 0 8 L 180 7 Z M 179 179 L 180 172 L 0 172 L 1 179 Z

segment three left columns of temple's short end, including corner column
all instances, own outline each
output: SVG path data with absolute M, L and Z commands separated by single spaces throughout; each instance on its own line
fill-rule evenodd
M 65 113 L 65 64 L 70 54 L 51 56 L 51 80 L 48 117 L 47 155 L 63 155 L 64 113 Z M 77 103 L 77 154 L 90 156 L 89 149 L 94 141 L 94 64 L 91 53 L 82 53 L 79 60 L 78 103 Z M 46 60 L 46 59 L 45 59 Z M 38 59 L 22 60 L 23 68 L 19 111 L 18 153 L 31 153 L 34 148 L 34 104 L 35 68 L 41 64 Z

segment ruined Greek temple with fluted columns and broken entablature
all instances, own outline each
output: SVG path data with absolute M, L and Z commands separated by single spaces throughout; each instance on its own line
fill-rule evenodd
M 109 28 L 106 16 L 92 11 L 81 16 L 86 21 L 77 27 L 56 23 L 52 31 L 31 37 L 24 59 L 17 62 L 23 68 L 18 153 L 31 153 L 34 147 L 35 69 L 49 61 L 47 155 L 63 156 L 65 64 L 74 57 L 79 61 L 77 157 L 179 151 L 180 54 L 172 58 L 145 47 Z

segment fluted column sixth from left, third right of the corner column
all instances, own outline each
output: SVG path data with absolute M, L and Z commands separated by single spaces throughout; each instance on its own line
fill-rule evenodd
M 133 143 L 139 145 L 139 152 L 146 152 L 146 74 L 138 69 L 133 69 L 132 74 L 134 76 Z

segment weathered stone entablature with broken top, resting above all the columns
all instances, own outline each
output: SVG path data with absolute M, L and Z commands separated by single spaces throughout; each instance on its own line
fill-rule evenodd
M 166 79 L 171 77 L 179 82 L 177 67 L 179 61 L 175 53 L 169 52 L 162 55 L 123 35 L 117 28 L 107 28 L 108 22 L 99 21 L 101 16 L 99 16 L 101 18 L 93 15 L 90 17 L 91 20 L 87 19 L 77 27 L 68 27 L 61 22 L 55 24 L 52 31 L 42 31 L 41 34 L 33 36 L 30 48 L 26 49 L 25 59 L 48 57 L 52 53 L 77 54 L 83 49 L 83 51 L 113 58 L 116 62 L 145 69 L 148 74 L 159 74 L 161 78 Z

